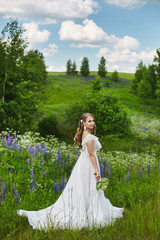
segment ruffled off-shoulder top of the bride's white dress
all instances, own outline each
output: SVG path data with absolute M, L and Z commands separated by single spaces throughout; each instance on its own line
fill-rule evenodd
M 94 135 L 92 135 L 92 134 L 90 134 L 90 133 L 87 134 L 87 135 L 84 137 L 84 139 L 83 139 L 83 141 L 82 141 L 82 143 L 81 143 L 81 145 L 82 145 L 81 153 L 86 154 L 87 156 L 88 156 L 89 154 L 88 154 L 88 149 L 87 149 L 86 143 L 89 142 L 89 141 L 94 141 L 94 152 L 97 152 L 99 149 L 102 148 L 102 145 L 100 144 L 100 142 L 99 142 L 99 140 L 98 140 L 98 137 L 96 137 L 96 136 L 94 136 Z

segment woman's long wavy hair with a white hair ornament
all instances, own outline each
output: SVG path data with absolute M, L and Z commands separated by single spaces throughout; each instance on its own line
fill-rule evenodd
M 78 128 L 77 128 L 77 131 L 76 131 L 76 134 L 75 134 L 75 137 L 74 137 L 74 142 L 78 145 L 78 147 L 81 149 L 82 148 L 82 134 L 83 134 L 83 131 L 84 131 L 84 125 L 83 125 L 83 122 L 86 122 L 86 119 L 87 117 L 93 117 L 93 119 L 95 120 L 94 116 L 91 114 L 91 113 L 83 113 L 79 119 L 79 122 L 78 122 Z M 95 134 L 96 133 L 96 124 L 94 126 L 94 129 L 93 129 L 93 133 Z

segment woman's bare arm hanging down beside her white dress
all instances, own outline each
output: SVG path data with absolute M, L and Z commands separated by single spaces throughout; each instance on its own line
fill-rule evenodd
M 101 176 L 100 176 L 100 173 L 99 173 L 96 156 L 94 154 L 94 142 L 93 141 L 87 142 L 87 149 L 88 149 L 88 153 L 89 153 L 89 157 L 91 159 L 92 165 L 93 165 L 93 167 L 96 171 L 96 174 L 97 174 L 96 179 L 99 181 Z

